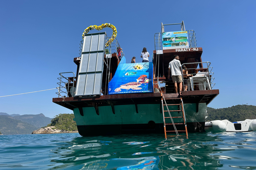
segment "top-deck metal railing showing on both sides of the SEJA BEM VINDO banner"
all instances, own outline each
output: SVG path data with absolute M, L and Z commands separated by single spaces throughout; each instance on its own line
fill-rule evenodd
M 194 30 L 188 30 L 188 44 L 189 48 L 197 47 L 196 33 Z M 155 50 L 163 50 L 162 33 L 156 33 L 154 36 Z

